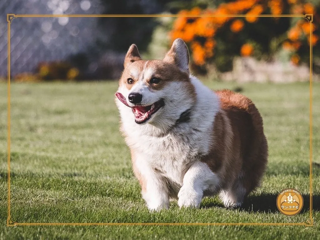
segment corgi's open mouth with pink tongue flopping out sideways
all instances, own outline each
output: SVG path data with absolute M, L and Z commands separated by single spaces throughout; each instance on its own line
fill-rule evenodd
M 130 107 L 121 93 L 117 92 L 116 96 L 124 105 Z M 132 108 L 132 112 L 135 117 L 135 122 L 137 124 L 144 124 L 151 118 L 153 114 L 155 114 L 163 106 L 164 106 L 164 100 L 161 99 L 149 106 L 137 105 L 130 108 Z

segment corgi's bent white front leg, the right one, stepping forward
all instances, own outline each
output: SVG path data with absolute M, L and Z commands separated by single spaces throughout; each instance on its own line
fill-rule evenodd
M 183 177 L 183 185 L 178 193 L 179 207 L 199 207 L 204 190 L 214 189 L 218 178 L 207 164 L 194 163 Z

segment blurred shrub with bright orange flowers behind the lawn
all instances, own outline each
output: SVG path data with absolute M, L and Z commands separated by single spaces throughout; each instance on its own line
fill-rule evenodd
M 319 8 L 319 7 L 318 7 Z M 292 62 L 306 61 L 310 42 L 317 46 L 319 17 L 317 8 L 304 0 L 235 0 L 220 4 L 216 9 L 182 10 L 173 23 L 171 40 L 182 38 L 190 47 L 192 62 L 204 67 L 213 61 L 219 70 L 228 70 L 235 55 L 271 56 L 281 48 L 291 52 Z M 314 23 L 297 18 L 281 18 L 281 14 L 314 14 Z M 201 16 L 197 16 L 201 14 Z M 228 15 L 243 14 L 244 17 Z M 259 17 L 275 15 L 273 18 Z M 309 39 L 310 31 L 313 32 Z M 278 39 L 276 48 L 271 40 Z M 307 49 L 307 50 L 306 50 Z

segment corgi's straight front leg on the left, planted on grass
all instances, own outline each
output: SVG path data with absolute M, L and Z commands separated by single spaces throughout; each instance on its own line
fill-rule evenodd
M 131 151 L 133 172 L 150 211 L 169 208 L 169 194 L 163 177 L 151 166 L 148 157 Z

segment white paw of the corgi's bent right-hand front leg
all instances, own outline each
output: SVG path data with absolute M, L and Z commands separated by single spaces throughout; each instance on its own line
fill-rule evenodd
M 202 192 L 197 192 L 194 188 L 182 186 L 178 193 L 178 205 L 180 208 L 199 207 L 202 200 L 202 195 Z

